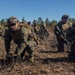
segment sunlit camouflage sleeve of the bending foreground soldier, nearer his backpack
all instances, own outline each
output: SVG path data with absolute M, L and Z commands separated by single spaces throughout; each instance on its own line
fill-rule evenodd
M 27 40 L 28 40 L 28 30 L 25 27 L 21 28 L 21 33 L 20 33 L 20 45 L 16 47 L 16 51 L 18 52 L 18 55 L 20 55 L 23 50 L 25 49 L 27 45 Z

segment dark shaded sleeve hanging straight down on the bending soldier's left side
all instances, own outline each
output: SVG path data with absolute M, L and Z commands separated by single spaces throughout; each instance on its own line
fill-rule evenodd
M 12 38 L 10 35 L 10 30 L 5 30 L 5 49 L 6 49 L 7 54 L 9 53 L 11 40 Z

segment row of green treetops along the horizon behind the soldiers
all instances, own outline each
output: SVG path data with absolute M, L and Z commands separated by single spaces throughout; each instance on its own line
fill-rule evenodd
M 27 22 L 27 21 L 23 17 L 22 20 L 21 20 L 21 22 L 23 23 L 23 22 Z M 44 21 L 41 17 L 39 17 L 37 20 L 34 19 L 33 22 L 32 22 L 32 24 L 34 22 L 37 22 L 37 25 L 40 25 L 41 23 L 45 22 L 46 25 L 47 25 L 47 27 L 54 27 L 57 24 L 56 20 L 50 21 L 48 18 L 46 18 L 45 21 Z M 70 17 L 69 18 L 69 22 L 71 22 L 71 23 L 75 22 L 75 18 L 71 18 Z M 7 27 L 7 18 L 0 20 L 0 25 L 2 25 L 4 27 Z

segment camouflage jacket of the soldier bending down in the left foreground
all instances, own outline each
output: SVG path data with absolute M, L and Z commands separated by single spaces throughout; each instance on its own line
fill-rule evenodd
M 17 44 L 16 49 L 18 51 L 23 51 L 27 45 L 27 42 L 29 41 L 28 40 L 29 34 L 30 34 L 29 30 L 23 26 L 20 27 L 20 29 L 15 32 L 8 29 L 7 32 L 5 33 L 6 50 L 10 49 L 10 42 L 13 40 Z

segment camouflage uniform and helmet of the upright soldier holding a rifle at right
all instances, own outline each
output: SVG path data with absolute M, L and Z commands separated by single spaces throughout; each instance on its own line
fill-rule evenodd
M 68 16 L 63 15 L 62 20 L 63 19 L 68 19 Z M 64 43 L 67 42 L 66 32 L 68 28 L 69 28 L 68 22 L 64 23 L 63 21 L 60 21 L 54 27 L 54 33 L 56 35 L 57 42 L 58 42 L 58 52 L 64 52 Z

